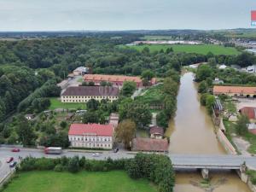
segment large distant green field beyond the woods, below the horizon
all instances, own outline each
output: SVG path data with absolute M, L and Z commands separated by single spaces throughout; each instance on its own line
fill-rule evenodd
M 224 47 L 221 45 L 216 44 L 152 44 L 152 45 L 134 45 L 134 46 L 125 46 L 122 45 L 120 47 L 128 47 L 131 49 L 137 49 L 139 51 L 142 51 L 145 47 L 148 47 L 151 52 L 159 51 L 160 49 L 166 50 L 167 48 L 172 47 L 174 52 L 186 52 L 186 53 L 197 53 L 197 54 L 203 54 L 207 55 L 208 52 L 212 52 L 214 55 L 237 55 L 239 54 L 239 51 L 235 48 L 230 47 Z

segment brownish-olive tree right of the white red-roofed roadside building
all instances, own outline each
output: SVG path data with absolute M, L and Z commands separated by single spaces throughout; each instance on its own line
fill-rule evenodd
M 125 148 L 131 148 L 131 140 L 135 137 L 136 124 L 130 119 L 125 119 L 119 123 L 116 129 L 116 137 L 125 144 Z

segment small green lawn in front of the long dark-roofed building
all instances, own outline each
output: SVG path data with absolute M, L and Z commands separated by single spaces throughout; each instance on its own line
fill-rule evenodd
M 49 98 L 50 101 L 50 110 L 54 110 L 56 108 L 68 108 L 68 109 L 85 109 L 86 105 L 85 103 L 79 103 L 79 102 L 73 102 L 73 103 L 63 103 L 61 100 L 59 100 L 57 97 L 51 97 Z

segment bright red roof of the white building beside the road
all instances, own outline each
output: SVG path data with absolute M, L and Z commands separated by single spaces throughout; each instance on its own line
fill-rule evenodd
M 97 135 L 113 136 L 113 125 L 100 124 L 72 124 L 70 125 L 68 135 Z

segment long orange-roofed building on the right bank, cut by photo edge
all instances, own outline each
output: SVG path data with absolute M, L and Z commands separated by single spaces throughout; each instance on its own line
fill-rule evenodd
M 256 97 L 256 87 L 242 86 L 214 86 L 213 94 L 215 96 L 241 96 L 241 97 Z

